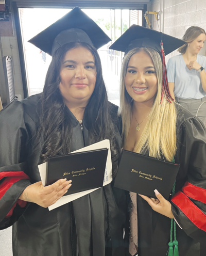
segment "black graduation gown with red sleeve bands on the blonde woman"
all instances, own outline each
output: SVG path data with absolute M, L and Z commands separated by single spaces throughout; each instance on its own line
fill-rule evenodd
M 180 164 L 180 169 L 176 193 L 169 200 L 175 219 L 182 228 L 176 225 L 180 256 L 200 256 L 206 254 L 203 251 L 206 242 L 206 131 L 202 122 L 183 107 L 177 105 L 177 113 L 175 162 Z M 138 256 L 165 256 L 170 241 L 170 219 L 153 211 L 139 195 L 136 201 Z M 126 241 L 128 246 L 129 224 Z M 128 250 L 126 254 L 130 255 Z

